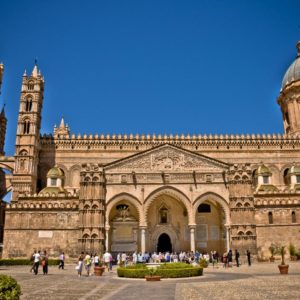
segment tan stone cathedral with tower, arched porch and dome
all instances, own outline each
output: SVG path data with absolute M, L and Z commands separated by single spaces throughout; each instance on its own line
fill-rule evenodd
M 277 99 L 283 134 L 40 135 L 44 79 L 23 75 L 16 148 L 2 156 L 4 257 L 65 251 L 300 248 L 300 43 Z

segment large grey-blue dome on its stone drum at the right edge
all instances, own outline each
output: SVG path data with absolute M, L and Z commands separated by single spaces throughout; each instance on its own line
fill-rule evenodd
M 297 43 L 298 54 L 286 71 L 280 95 L 277 99 L 281 107 L 284 132 L 300 134 L 300 42 Z

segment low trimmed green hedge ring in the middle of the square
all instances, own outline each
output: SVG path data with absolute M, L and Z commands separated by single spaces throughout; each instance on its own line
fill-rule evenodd
M 161 278 L 180 278 L 203 275 L 203 268 L 193 267 L 184 263 L 163 264 L 153 271 L 154 272 L 151 272 L 151 269 L 148 269 L 146 265 L 143 267 L 141 267 L 141 265 L 119 267 L 117 269 L 118 276 L 126 278 L 145 278 L 145 276 L 150 275 L 150 273 L 161 276 Z

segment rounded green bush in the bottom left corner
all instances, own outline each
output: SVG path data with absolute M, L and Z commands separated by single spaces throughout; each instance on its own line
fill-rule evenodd
M 7 275 L 0 275 L 0 300 L 18 300 L 21 287 L 17 281 Z

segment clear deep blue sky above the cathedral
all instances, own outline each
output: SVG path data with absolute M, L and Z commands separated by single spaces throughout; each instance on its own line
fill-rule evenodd
M 42 133 L 280 133 L 300 1 L 3 1 L 0 104 L 14 153 L 21 79 L 45 77 Z

